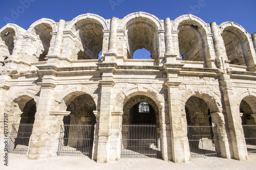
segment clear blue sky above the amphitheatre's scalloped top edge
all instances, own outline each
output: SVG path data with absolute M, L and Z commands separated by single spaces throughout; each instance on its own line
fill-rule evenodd
M 138 0 L 10 0 L 1 2 L 0 28 L 12 22 L 27 30 L 40 18 L 72 20 L 85 13 L 94 13 L 105 19 L 143 11 L 159 19 L 174 20 L 182 14 L 194 14 L 205 22 L 233 21 L 252 34 L 256 32 L 255 0 L 184 0 L 184 1 L 138 1 Z

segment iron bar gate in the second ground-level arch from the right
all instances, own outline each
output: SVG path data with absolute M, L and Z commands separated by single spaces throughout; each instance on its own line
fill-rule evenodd
M 220 156 L 216 126 L 187 125 L 191 158 Z

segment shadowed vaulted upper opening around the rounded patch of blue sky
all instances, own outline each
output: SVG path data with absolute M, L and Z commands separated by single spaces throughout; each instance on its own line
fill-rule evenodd
M 127 58 L 134 58 L 134 52 L 145 48 L 151 58 L 158 57 L 158 31 L 156 24 L 147 18 L 137 17 L 126 23 Z

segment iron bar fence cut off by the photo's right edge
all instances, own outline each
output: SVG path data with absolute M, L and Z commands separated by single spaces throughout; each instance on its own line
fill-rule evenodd
M 242 125 L 248 154 L 256 154 L 256 125 Z

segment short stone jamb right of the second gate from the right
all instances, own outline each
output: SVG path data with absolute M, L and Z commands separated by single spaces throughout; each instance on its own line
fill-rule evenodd
M 231 158 L 229 152 L 229 143 L 225 128 L 225 119 L 223 113 L 212 112 L 210 113 L 212 123 L 216 124 L 217 134 L 215 134 L 218 138 L 220 153 L 222 158 Z

